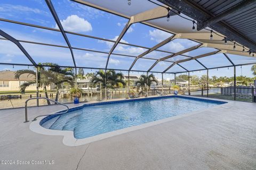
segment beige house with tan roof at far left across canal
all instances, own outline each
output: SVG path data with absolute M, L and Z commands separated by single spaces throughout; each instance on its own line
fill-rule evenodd
M 15 79 L 14 75 L 15 71 L 0 71 L 0 91 L 19 91 L 21 84 L 35 80 L 34 75 L 31 74 L 22 74 L 19 80 Z M 46 89 L 50 90 L 51 87 L 47 86 Z M 30 85 L 26 90 L 36 90 L 36 84 Z

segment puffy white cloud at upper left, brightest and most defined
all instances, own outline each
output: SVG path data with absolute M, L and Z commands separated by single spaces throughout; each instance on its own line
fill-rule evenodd
M 77 15 L 70 15 L 67 17 L 66 20 L 60 21 L 62 24 L 62 27 L 67 31 L 78 31 L 78 32 L 87 32 L 92 31 L 92 25 L 90 22 L 86 21 L 83 18 L 80 18 Z M 55 25 L 56 29 L 58 28 L 58 25 Z

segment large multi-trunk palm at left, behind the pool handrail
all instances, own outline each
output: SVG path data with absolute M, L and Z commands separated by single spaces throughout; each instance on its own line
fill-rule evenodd
M 49 65 L 50 69 L 45 69 L 45 67 L 40 65 Z M 57 64 L 52 63 L 38 64 L 38 87 L 42 87 L 44 89 L 46 98 L 49 98 L 46 87 L 50 86 L 51 83 L 57 86 L 56 101 L 58 101 L 58 89 L 60 88 L 62 82 L 68 82 L 71 85 L 74 84 L 74 76 L 70 70 L 70 68 L 61 69 L 61 67 L 59 67 Z M 27 74 L 28 77 L 35 78 L 35 80 L 26 81 L 20 85 L 20 92 L 24 93 L 27 87 L 31 86 L 32 84 L 36 84 L 36 72 L 28 69 L 18 70 L 15 72 L 15 79 L 19 79 L 22 74 Z M 51 105 L 50 101 L 47 100 L 47 104 Z

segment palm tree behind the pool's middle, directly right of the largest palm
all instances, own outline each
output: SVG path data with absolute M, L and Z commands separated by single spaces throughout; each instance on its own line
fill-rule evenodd
M 107 81 L 106 81 L 107 80 Z M 123 73 L 116 73 L 114 70 L 108 70 L 106 73 L 103 70 L 97 71 L 92 75 L 92 83 L 102 83 L 102 88 L 109 87 L 114 89 L 119 87 L 120 84 L 125 86 Z M 113 96 L 113 91 L 111 92 L 111 97 Z

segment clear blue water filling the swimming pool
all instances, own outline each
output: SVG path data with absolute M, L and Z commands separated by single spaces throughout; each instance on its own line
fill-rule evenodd
M 74 131 L 74 137 L 82 139 L 220 104 L 223 103 L 185 97 L 152 98 L 86 106 L 77 111 L 46 117 L 41 125 L 52 130 Z

